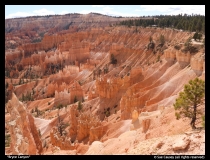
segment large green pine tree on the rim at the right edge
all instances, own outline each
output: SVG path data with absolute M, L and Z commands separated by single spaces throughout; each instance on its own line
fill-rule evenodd
M 202 112 L 197 107 L 202 104 L 204 97 L 205 82 L 198 78 L 190 80 L 189 84 L 184 86 L 184 91 L 180 92 L 174 104 L 174 109 L 177 111 L 175 113 L 176 118 L 179 119 L 181 116 L 190 118 L 190 125 L 192 129 L 195 129 L 197 115 L 202 115 Z

